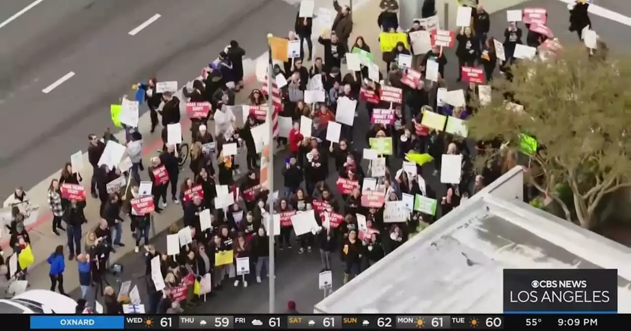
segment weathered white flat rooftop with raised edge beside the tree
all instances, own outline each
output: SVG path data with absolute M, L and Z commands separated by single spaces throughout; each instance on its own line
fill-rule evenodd
M 315 305 L 315 313 L 502 313 L 504 269 L 618 269 L 631 249 L 522 202 L 516 167 Z

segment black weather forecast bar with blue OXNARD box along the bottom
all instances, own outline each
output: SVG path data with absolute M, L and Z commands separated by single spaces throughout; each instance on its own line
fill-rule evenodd
M 623 314 L 505 315 L 3 315 L 11 325 L 32 330 L 363 329 L 411 330 L 615 330 L 628 325 Z M 23 321 L 23 322 L 20 322 Z M 7 321 L 9 322 L 9 321 Z M 24 323 L 24 324 L 22 324 Z

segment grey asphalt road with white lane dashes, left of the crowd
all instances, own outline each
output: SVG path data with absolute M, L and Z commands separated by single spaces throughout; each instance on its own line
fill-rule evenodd
M 0 19 L 29 3 L 1 1 Z M 85 151 L 88 134 L 111 126 L 109 105 L 132 83 L 150 76 L 188 81 L 230 40 L 257 57 L 268 32 L 293 26 L 295 10 L 281 0 L 42 1 L 0 28 L 0 187 L 6 194 L 32 187 Z M 128 34 L 156 13 L 162 17 Z

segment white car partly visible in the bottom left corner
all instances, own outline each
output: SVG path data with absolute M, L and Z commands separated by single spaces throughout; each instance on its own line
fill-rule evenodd
M 0 314 L 71 314 L 77 303 L 72 298 L 46 289 L 32 289 L 11 299 L 0 299 Z M 97 302 L 97 313 L 103 306 Z

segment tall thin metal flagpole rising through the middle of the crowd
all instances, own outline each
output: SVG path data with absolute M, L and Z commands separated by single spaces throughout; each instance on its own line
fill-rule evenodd
M 274 63 L 272 61 L 272 47 L 271 47 L 271 38 L 274 37 L 271 33 L 268 33 L 268 49 L 269 49 L 269 64 L 268 64 L 268 113 L 266 114 L 265 120 L 269 125 L 269 155 L 268 155 L 268 185 L 269 185 L 269 194 L 268 194 L 268 202 L 269 202 L 269 229 L 268 230 L 268 238 L 269 238 L 269 313 L 274 313 L 274 306 L 276 305 L 276 274 L 274 273 L 274 123 L 272 119 L 272 114 L 275 112 L 274 109 L 274 101 L 273 101 L 273 93 L 274 89 L 272 87 L 273 84 L 273 74 L 274 74 Z

